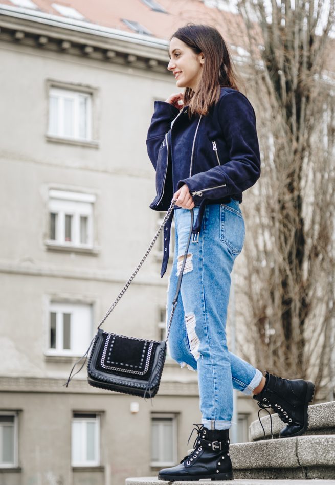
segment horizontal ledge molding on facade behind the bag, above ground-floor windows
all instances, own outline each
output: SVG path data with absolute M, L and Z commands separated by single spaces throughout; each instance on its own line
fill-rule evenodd
M 29 392 L 56 394 L 113 394 L 120 398 L 118 392 L 106 391 L 89 386 L 86 379 L 74 379 L 69 387 L 64 387 L 65 379 L 48 379 L 35 377 L 0 377 L 0 392 Z M 198 396 L 197 382 L 161 381 L 158 396 Z

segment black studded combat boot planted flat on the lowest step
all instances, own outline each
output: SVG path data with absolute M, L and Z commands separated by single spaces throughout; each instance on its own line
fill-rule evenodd
M 195 426 L 197 428 L 192 433 L 195 430 L 198 436 L 193 445 L 194 450 L 182 459 L 180 465 L 161 470 L 158 474 L 159 480 L 233 480 L 229 429 L 211 431 L 203 425 Z

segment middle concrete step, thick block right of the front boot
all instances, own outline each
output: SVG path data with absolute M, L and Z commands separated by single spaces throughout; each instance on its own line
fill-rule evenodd
M 335 435 L 236 443 L 230 456 L 238 479 L 335 479 Z

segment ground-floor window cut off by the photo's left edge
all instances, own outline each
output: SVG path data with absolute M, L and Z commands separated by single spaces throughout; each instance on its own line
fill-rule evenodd
M 0 412 L 0 467 L 17 466 L 17 415 Z

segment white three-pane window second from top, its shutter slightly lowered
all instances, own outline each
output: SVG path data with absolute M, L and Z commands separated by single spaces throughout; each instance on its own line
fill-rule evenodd
M 49 245 L 93 247 L 95 195 L 49 191 Z

